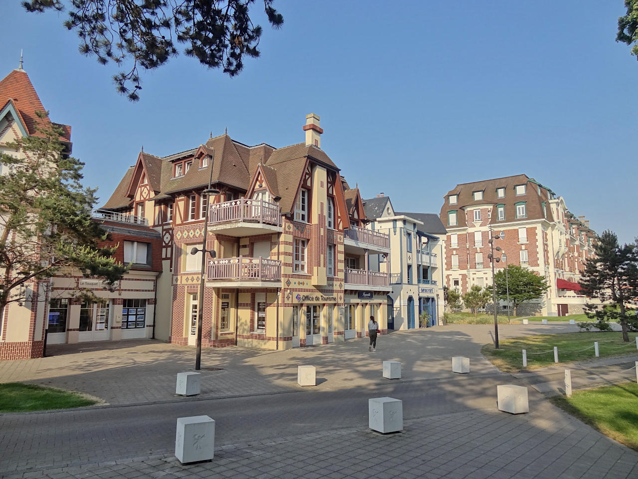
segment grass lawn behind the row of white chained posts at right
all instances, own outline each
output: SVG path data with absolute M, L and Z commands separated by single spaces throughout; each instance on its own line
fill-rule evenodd
M 623 335 L 620 331 L 504 338 L 499 341 L 499 349 L 494 349 L 494 344 L 486 344 L 481 351 L 501 371 L 514 371 L 524 369 L 522 350 L 526 349 L 527 368 L 525 369 L 538 369 L 554 365 L 554 346 L 558 347 L 558 361 L 561 363 L 594 359 L 594 341 L 598 341 L 601 358 L 635 354 L 637 334 L 629 333 L 630 342 L 628 343 L 623 342 Z M 585 351 L 581 351 L 582 349 Z

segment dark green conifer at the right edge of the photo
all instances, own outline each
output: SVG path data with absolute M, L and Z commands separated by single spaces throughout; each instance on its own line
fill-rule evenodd
M 603 304 L 588 304 L 585 314 L 598 323 L 617 321 L 623 330 L 623 341 L 629 341 L 628 325 L 635 321 L 634 310 L 627 305 L 638 299 L 638 239 L 620 246 L 618 237 L 607 230 L 593 245 L 594 255 L 585 262 L 580 285 L 590 298 Z

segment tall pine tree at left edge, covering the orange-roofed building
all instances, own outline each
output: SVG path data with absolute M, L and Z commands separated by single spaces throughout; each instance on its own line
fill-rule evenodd
M 91 219 L 96 190 L 80 184 L 84 163 L 64 155 L 61 128 L 38 123 L 40 135 L 6 144 L 19 153 L 0 155 L 8 169 L 0 176 L 0 314 L 26 300 L 27 283 L 61 268 L 104 278 L 111 287 L 126 271 L 112 257 L 114 248 L 100 247 L 107 234 Z

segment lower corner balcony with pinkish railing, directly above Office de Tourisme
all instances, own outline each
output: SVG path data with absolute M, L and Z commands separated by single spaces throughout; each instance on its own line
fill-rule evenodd
M 209 286 L 281 286 L 281 261 L 244 256 L 211 259 L 206 269 Z

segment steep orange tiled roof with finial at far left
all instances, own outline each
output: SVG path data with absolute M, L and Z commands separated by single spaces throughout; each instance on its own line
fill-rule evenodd
M 42 105 L 40 97 L 29 79 L 29 75 L 24 70 L 13 70 L 4 79 L 0 80 L 0 105 L 4 107 L 10 100 L 13 101 L 19 112 L 19 118 L 16 118 L 16 121 L 20 121 L 24 125 L 29 135 L 41 137 L 42 134 L 36 130 L 38 122 L 52 122 L 48 117 L 40 119 L 36 115 L 36 111 L 44 112 L 46 109 Z M 71 126 L 59 123 L 53 124 L 62 128 L 63 141 L 70 142 Z

